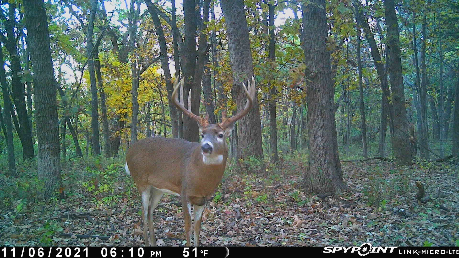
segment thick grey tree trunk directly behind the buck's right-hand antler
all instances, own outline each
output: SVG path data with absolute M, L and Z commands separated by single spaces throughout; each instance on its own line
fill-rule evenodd
M 243 0 L 221 0 L 220 3 L 228 30 L 229 58 L 233 71 L 232 91 L 236 95 L 237 112 L 241 112 L 246 106 L 246 93 L 241 89 L 241 83 L 254 76 L 244 2 Z M 256 98 L 252 109 L 239 120 L 238 157 L 263 157 L 259 110 Z

